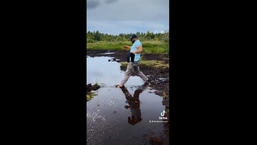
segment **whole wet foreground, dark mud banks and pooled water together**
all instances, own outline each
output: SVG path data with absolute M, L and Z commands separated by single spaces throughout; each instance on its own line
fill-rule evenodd
M 116 88 L 124 77 L 116 58 L 126 61 L 125 51 L 88 51 L 88 91 L 95 96 L 87 101 L 87 143 L 92 145 L 169 145 L 168 70 L 140 69 L 150 79 L 145 85 L 139 77 L 131 77 L 125 88 Z M 167 56 L 144 55 L 165 59 Z M 152 60 L 152 59 L 151 59 Z M 165 79 L 160 79 L 165 78 Z M 94 86 L 94 83 L 99 86 Z M 143 89 L 144 88 L 144 89 Z

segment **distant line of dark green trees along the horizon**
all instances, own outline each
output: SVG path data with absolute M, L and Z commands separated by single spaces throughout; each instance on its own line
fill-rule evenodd
M 146 33 L 137 32 L 135 33 L 138 38 L 142 41 L 145 40 L 154 40 L 154 41 L 164 41 L 169 42 L 169 32 L 164 33 L 153 33 L 147 31 Z M 99 31 L 88 31 L 87 32 L 87 43 L 97 42 L 97 41 L 108 41 L 108 42 L 115 42 L 115 41 L 129 41 L 132 33 L 125 34 L 120 33 L 119 35 L 111 35 L 111 34 L 104 34 Z

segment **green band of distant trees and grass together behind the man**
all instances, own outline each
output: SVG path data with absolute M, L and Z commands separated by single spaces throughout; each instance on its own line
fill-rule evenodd
M 123 50 L 123 45 L 131 45 L 129 38 L 132 34 L 109 35 L 98 31 L 87 32 L 87 50 Z M 168 54 L 169 32 L 166 33 L 139 33 L 136 35 L 143 44 L 146 54 Z

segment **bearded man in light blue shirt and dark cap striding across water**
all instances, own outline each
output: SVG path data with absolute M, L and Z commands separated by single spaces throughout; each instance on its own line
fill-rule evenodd
M 140 53 L 143 51 L 142 43 L 135 34 L 131 36 L 130 41 L 132 42 L 132 46 L 130 47 L 125 45 L 123 48 L 130 49 L 130 56 L 132 59 L 127 60 L 128 66 L 125 72 L 125 77 L 119 85 L 116 85 L 117 88 L 123 87 L 130 76 L 139 76 L 148 83 L 148 78 L 139 69 Z

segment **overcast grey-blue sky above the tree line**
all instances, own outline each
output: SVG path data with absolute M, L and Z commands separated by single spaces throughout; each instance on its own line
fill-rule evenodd
M 87 31 L 169 31 L 169 0 L 87 0 Z

